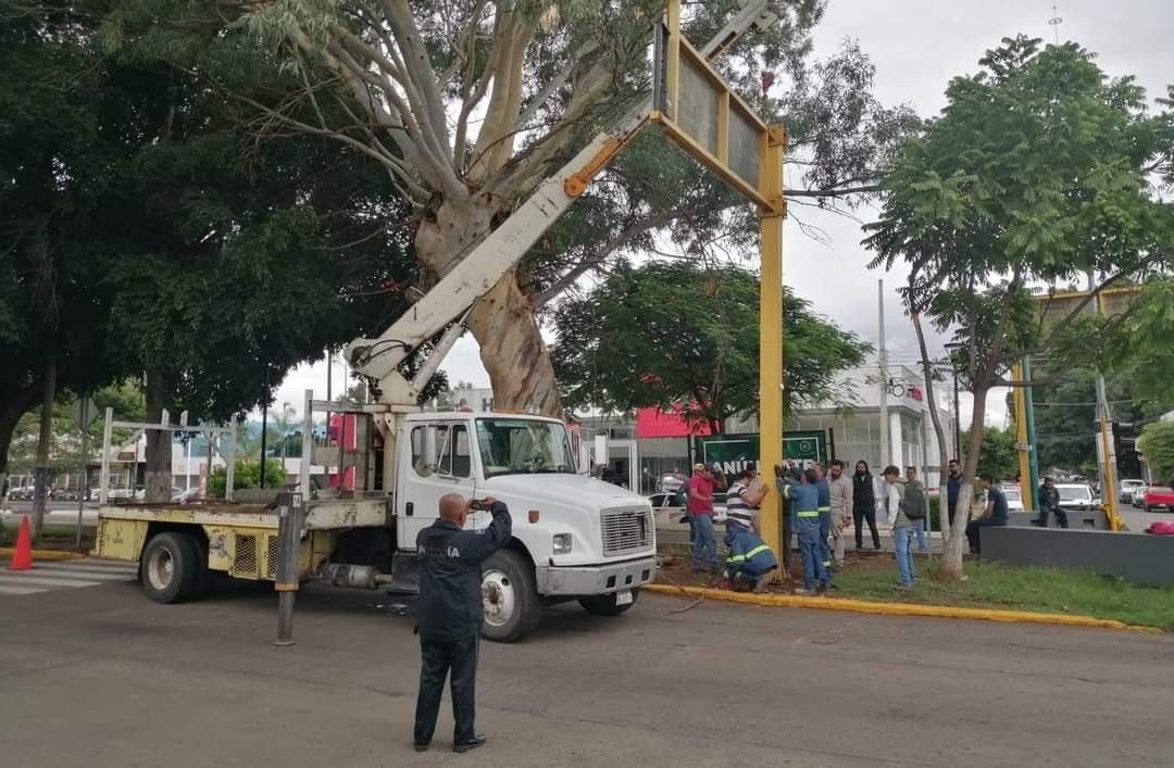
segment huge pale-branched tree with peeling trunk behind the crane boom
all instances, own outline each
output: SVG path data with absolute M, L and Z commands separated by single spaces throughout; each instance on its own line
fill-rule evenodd
M 790 196 L 819 203 L 875 190 L 869 182 L 896 138 L 916 123 L 908 109 L 884 110 L 871 97 L 871 63 L 857 49 L 821 62 L 826 66 L 808 61 L 823 6 L 780 4 L 780 23 L 747 36 L 718 62 L 744 95 L 763 104 L 768 120 L 794 116 L 803 186 Z M 166 36 L 190 26 L 166 0 L 134 7 L 137 13 L 110 20 L 110 36 Z M 203 8 L 185 12 L 200 18 Z M 687 4 L 689 36 L 708 40 L 738 8 L 736 0 Z M 218 42 L 265 35 L 304 83 L 288 98 L 225 83 L 259 110 L 258 125 L 340 142 L 394 179 L 414 205 L 411 242 L 427 286 L 456 269 L 587 137 L 647 95 L 647 43 L 661 12 L 660 0 L 282 0 L 238 9 L 208 4 L 204 15 L 227 14 Z M 780 89 L 784 77 L 794 86 L 787 97 L 770 97 L 775 75 Z M 743 219 L 723 216 L 735 198 L 688 161 L 675 156 L 661 175 L 669 166 L 633 159 L 601 179 L 582 216 L 473 307 L 467 325 L 504 407 L 560 409 L 535 311 L 580 274 L 647 244 L 654 231 L 672 231 L 679 240 L 686 232 L 704 233 L 684 244 L 693 249 L 717 239 L 718 231 L 744 231 Z M 688 186 L 666 188 L 666 178 Z

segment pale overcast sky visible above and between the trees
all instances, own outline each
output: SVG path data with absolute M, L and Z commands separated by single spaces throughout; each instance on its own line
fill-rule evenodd
M 1151 98 L 1165 94 L 1174 82 L 1174 30 L 1172 0 L 1065 0 L 1058 4 L 1061 40 L 1075 40 L 1099 55 L 1109 76 L 1133 74 Z M 905 102 L 930 116 L 945 106 L 950 77 L 972 73 L 978 59 L 1005 36 L 1018 33 L 1053 40 L 1051 0 L 831 0 L 824 21 L 815 33 L 817 55 L 828 55 L 845 38 L 855 38 L 877 67 L 875 91 L 889 104 Z M 798 218 L 818 226 L 828 237 L 821 244 L 788 223 L 784 246 L 784 279 L 815 308 L 842 327 L 872 341 L 878 339 L 877 279 L 886 277 L 865 269 L 869 253 L 861 246 L 857 222 L 829 213 L 798 209 Z M 875 211 L 862 210 L 868 220 Z M 893 361 L 909 361 L 916 341 L 892 286 L 902 279 L 885 279 L 886 342 Z M 488 386 L 477 344 L 466 334 L 441 366 L 452 382 L 471 381 Z M 325 394 L 325 363 L 294 371 L 277 393 L 276 402 L 290 401 L 301 410 L 304 390 Z M 335 366 L 335 392 L 343 373 Z M 1001 426 L 1003 397 L 990 399 L 987 422 Z M 965 407 L 965 406 L 964 406 Z

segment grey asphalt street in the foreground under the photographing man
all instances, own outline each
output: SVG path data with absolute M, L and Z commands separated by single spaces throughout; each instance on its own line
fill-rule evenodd
M 87 766 L 1170 766 L 1174 638 L 755 609 L 646 594 L 547 610 L 484 644 L 491 739 L 410 746 L 412 606 L 222 585 L 164 606 L 135 583 L 0 596 L 0 755 Z

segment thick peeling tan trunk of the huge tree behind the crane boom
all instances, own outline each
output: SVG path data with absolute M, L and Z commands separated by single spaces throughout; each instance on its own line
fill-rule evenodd
M 484 197 L 463 205 L 443 204 L 417 229 L 417 258 L 433 273 L 447 274 L 490 232 L 501 209 L 501 201 Z M 517 271 L 511 270 L 481 297 L 468 329 L 481 346 L 497 407 L 558 416 L 562 406 L 554 367 L 534 311 L 533 298 L 521 291 Z

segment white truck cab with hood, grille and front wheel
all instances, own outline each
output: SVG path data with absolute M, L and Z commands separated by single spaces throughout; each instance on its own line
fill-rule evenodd
M 440 497 L 492 496 L 508 507 L 513 536 L 485 564 L 485 634 L 514 640 L 537 625 L 542 604 L 578 599 L 616 614 L 656 572 L 648 499 L 581 474 L 566 426 L 502 413 L 420 413 L 400 421 L 393 494 L 396 558 L 436 522 Z M 481 529 L 490 514 L 467 523 Z M 412 567 L 397 564 L 409 579 Z

